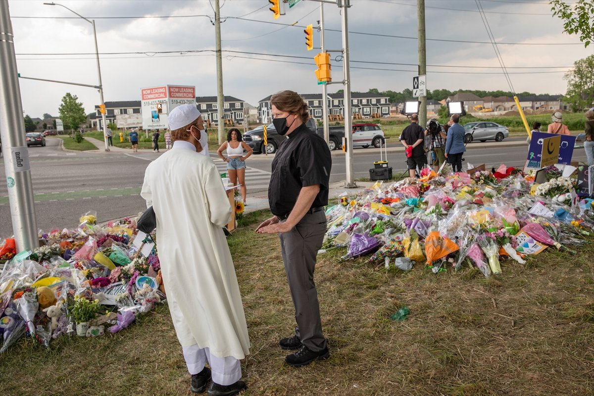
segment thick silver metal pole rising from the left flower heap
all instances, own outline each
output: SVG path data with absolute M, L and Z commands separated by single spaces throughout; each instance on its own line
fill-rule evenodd
M 33 183 L 29 150 L 25 142 L 23 103 L 18 84 L 17 58 L 8 9 L 0 0 L 0 137 L 4 142 L 4 166 L 8 202 L 17 252 L 39 246 L 37 217 L 33 202 Z

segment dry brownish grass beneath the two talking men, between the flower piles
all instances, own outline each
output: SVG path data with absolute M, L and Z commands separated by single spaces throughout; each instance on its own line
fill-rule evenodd
M 433 274 L 318 256 L 315 280 L 331 357 L 304 368 L 278 347 L 295 318 L 276 235 L 248 214 L 228 238 L 251 340 L 245 395 L 592 395 L 594 240 L 579 255 L 547 249 L 503 274 Z M 191 260 L 192 258 L 188 258 Z M 410 308 L 403 322 L 391 321 Z M 0 356 L 0 394 L 189 395 L 166 305 L 102 338 L 21 340 Z

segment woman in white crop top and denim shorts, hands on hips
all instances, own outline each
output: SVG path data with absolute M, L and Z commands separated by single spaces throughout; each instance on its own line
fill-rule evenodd
M 227 149 L 227 157 L 223 156 L 223 150 Z M 244 150 L 248 153 L 244 156 Z M 247 205 L 245 198 L 248 189 L 245 187 L 245 160 L 251 156 L 253 150 L 246 142 L 241 138 L 241 132 L 237 128 L 229 129 L 227 134 L 227 141 L 223 142 L 217 154 L 219 158 L 227 163 L 227 172 L 229 173 L 229 180 L 233 185 L 237 185 L 239 179 L 239 185 L 241 185 L 241 198 L 244 201 L 244 205 Z

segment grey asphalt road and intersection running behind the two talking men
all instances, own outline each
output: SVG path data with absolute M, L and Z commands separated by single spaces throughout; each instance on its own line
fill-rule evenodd
M 511 141 L 510 140 L 505 140 Z M 394 151 L 398 150 L 398 151 Z M 140 197 L 144 170 L 157 153 L 104 153 L 62 151 L 59 140 L 48 138 L 46 147 L 29 149 L 31 178 L 39 229 L 47 232 L 53 228 L 73 228 L 80 216 L 87 211 L 96 211 L 99 221 L 108 221 L 131 216 L 144 210 L 145 202 Z M 1 154 L 2 156 L 4 153 Z M 211 157 L 225 172 L 225 163 L 216 155 Z M 246 185 L 248 195 L 266 194 L 270 179 L 271 162 L 274 156 L 254 155 L 247 161 Z M 333 166 L 330 180 L 345 180 L 345 155 L 333 151 Z M 526 145 L 508 147 L 502 143 L 469 144 L 465 154 L 467 163 L 487 167 L 523 166 Z M 353 154 L 355 178 L 369 177 L 369 168 L 380 159 L 377 148 L 356 148 Z M 405 154 L 394 142 L 388 144 L 387 159 L 394 169 L 394 176 L 406 170 Z M 582 149 L 574 151 L 574 160 L 585 160 Z M 400 172 L 399 172 L 400 171 Z M 6 180 L 4 159 L 0 161 L 0 178 Z M 12 221 L 8 205 L 7 185 L 0 183 L 0 238 L 12 235 Z

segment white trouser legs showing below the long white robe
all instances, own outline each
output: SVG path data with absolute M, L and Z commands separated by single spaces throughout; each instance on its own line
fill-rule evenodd
M 191 375 L 200 373 L 208 361 L 216 384 L 231 385 L 241 378 L 241 364 L 233 356 L 216 357 L 210 354 L 208 348 L 199 348 L 197 344 L 182 347 L 182 351 Z

